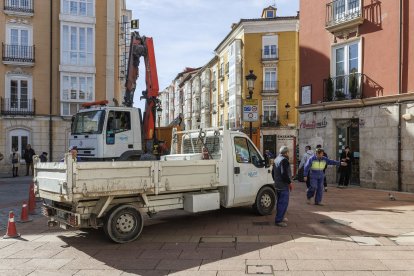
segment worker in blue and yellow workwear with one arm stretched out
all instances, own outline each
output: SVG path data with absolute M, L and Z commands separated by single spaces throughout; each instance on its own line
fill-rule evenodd
M 308 159 L 308 162 L 305 165 L 305 175 L 309 173 L 310 177 L 310 187 L 307 191 L 307 203 L 311 203 L 312 197 L 315 197 L 315 205 L 323 205 L 323 179 L 324 179 L 324 170 L 326 165 L 336 165 L 336 166 L 346 166 L 345 162 L 340 162 L 336 160 L 328 159 L 323 156 L 323 148 L 317 148 L 315 155 Z M 307 177 L 305 176 L 305 180 Z M 316 195 L 315 195 L 316 194 Z

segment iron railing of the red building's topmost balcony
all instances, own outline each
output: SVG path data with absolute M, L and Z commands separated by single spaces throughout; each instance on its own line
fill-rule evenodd
M 326 4 L 327 28 L 362 19 L 363 0 L 335 0 Z

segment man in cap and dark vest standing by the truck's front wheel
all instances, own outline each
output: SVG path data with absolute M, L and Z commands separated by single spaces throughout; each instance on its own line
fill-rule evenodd
M 282 146 L 279 156 L 275 159 L 272 172 L 276 188 L 276 216 L 275 224 L 286 227 L 288 219 L 285 217 L 289 205 L 289 194 L 293 190 L 292 172 L 289 164 L 289 149 Z

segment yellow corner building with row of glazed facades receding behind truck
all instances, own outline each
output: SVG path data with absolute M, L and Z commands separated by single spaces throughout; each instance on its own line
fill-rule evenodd
M 261 18 L 233 24 L 215 49 L 215 57 L 180 82 L 186 91 L 186 128 L 224 127 L 249 134 L 250 125 L 243 120 L 243 99 L 249 97 L 245 77 L 253 70 L 257 77 L 253 99 L 258 103 L 258 118 L 252 123 L 253 141 L 261 151 L 277 153 L 288 139 L 293 152 L 299 83 L 298 27 L 298 16 L 278 17 L 271 6 L 263 10 Z M 177 89 L 177 85 L 174 87 Z

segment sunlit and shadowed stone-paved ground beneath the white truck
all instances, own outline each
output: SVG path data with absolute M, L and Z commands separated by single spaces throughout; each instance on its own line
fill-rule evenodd
M 123 245 L 38 217 L 17 224 L 21 239 L 0 239 L 0 275 L 414 275 L 414 195 L 394 195 L 329 187 L 315 206 L 298 183 L 286 228 L 248 207 L 174 211 Z

